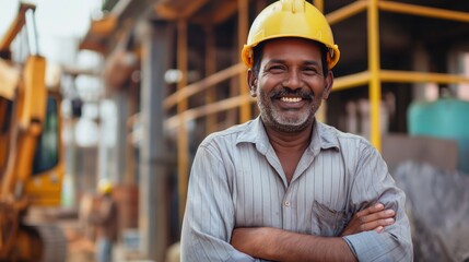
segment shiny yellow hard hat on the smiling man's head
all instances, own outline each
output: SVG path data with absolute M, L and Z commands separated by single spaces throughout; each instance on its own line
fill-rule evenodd
M 333 44 L 332 31 L 324 14 L 305 0 L 280 0 L 257 15 L 250 26 L 247 44 L 242 50 L 243 62 L 251 68 L 253 48 L 259 43 L 279 37 L 302 37 L 323 43 L 328 48 L 329 69 L 339 61 L 340 50 Z

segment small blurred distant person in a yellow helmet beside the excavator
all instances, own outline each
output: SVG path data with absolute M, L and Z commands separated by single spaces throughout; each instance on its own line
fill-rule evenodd
M 101 180 L 98 183 L 97 206 L 90 214 L 90 222 L 96 228 L 96 261 L 113 261 L 113 245 L 117 241 L 117 204 L 113 199 L 113 183 Z

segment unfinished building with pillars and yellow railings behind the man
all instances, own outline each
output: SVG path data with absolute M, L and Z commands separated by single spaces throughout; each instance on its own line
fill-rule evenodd
M 115 181 L 138 189 L 138 219 L 130 224 L 139 228 L 144 258 L 164 261 L 179 239 L 198 144 L 258 115 L 239 53 L 254 17 L 271 2 L 108 0 L 80 43 L 105 66 L 67 73 L 98 75 L 116 105 L 116 144 L 99 156 Z M 420 129 L 410 114 L 419 102 L 469 99 L 469 4 L 310 2 L 325 13 L 341 50 L 333 92 L 317 117 L 370 139 L 391 168 L 414 159 L 469 174 L 467 131 L 432 135 L 437 127 Z M 469 128 L 462 108 L 469 107 L 449 112 L 459 120 L 447 130 Z

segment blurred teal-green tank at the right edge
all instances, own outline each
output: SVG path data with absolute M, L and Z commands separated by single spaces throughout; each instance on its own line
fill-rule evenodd
M 458 169 L 469 175 L 469 102 L 441 98 L 413 103 L 408 110 L 409 133 L 458 143 Z

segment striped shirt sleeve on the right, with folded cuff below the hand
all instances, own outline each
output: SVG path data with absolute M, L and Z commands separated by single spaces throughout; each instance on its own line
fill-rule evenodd
M 409 219 L 406 215 L 406 194 L 397 188 L 380 154 L 367 142 L 359 148 L 351 201 L 356 211 L 368 204 L 383 203 L 396 212 L 395 224 L 380 234 L 364 231 L 344 237 L 359 261 L 413 261 Z

